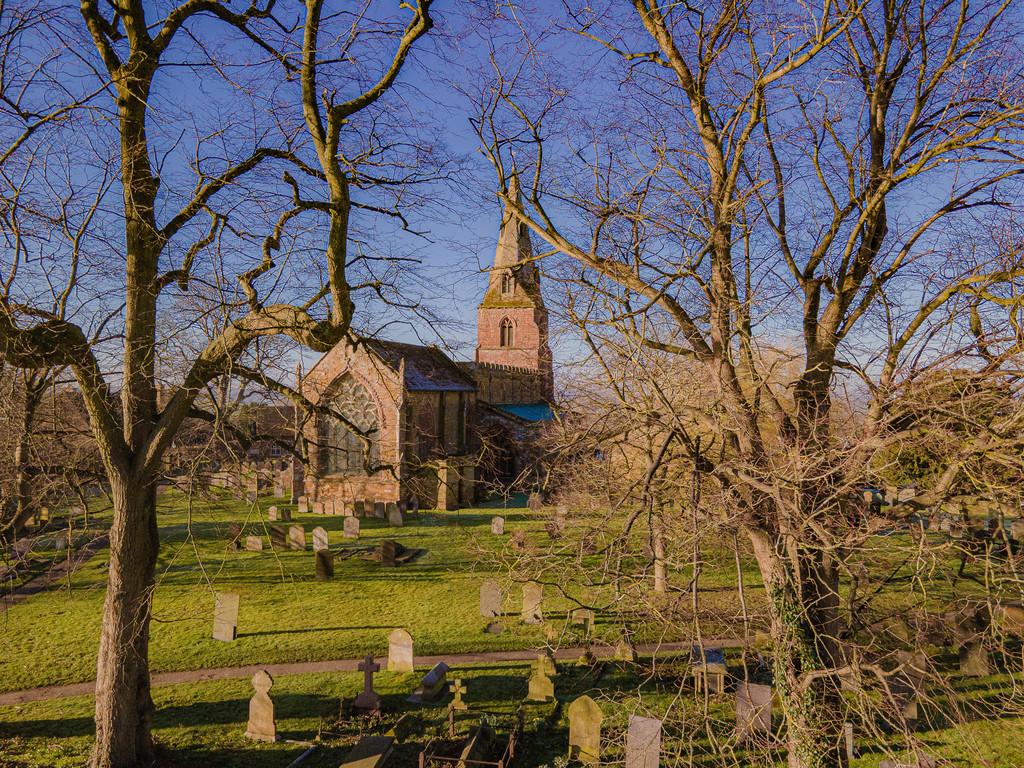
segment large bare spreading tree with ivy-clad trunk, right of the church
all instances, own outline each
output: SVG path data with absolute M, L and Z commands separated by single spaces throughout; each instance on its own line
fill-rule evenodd
M 1020 49 L 1016 6 L 632 8 L 567 3 L 548 29 L 516 14 L 528 53 L 494 55 L 481 142 L 503 203 L 607 300 L 592 327 L 707 377 L 715 401 L 667 399 L 663 432 L 757 558 L 790 765 L 843 765 L 840 578 L 873 532 L 844 510 L 901 431 L 908 378 L 950 356 L 1015 376 L 1024 262 L 1013 238 L 978 232 L 1009 231 L 1024 172 L 1020 82 L 996 63 Z M 543 71 L 567 29 L 622 69 L 586 59 L 580 93 Z M 614 111 L 593 95 L 609 70 Z M 783 386 L 785 346 L 800 352 Z M 855 423 L 841 385 L 859 389 Z M 899 509 L 937 504 L 979 454 L 1012 461 L 1019 410 L 974 428 Z

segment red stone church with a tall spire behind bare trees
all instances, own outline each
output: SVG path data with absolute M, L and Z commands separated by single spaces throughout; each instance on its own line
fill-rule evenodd
M 471 505 L 523 470 L 522 446 L 551 418 L 548 313 L 526 226 L 506 214 L 477 308 L 476 355 L 367 339 L 342 342 L 302 382 L 319 416 L 306 428 L 312 501 Z M 354 427 L 354 429 L 353 429 Z

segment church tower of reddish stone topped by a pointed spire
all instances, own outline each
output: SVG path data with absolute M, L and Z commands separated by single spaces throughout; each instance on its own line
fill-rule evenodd
M 515 176 L 509 183 L 509 195 L 519 199 Z M 534 261 L 529 229 L 508 210 L 502 217 L 487 291 L 476 310 L 476 361 L 537 371 L 544 396 L 553 394 L 541 273 Z

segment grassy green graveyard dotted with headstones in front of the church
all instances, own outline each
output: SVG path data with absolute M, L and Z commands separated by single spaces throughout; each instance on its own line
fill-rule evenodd
M 717 765 L 723 755 L 741 765 L 784 762 L 768 736 L 778 722 L 770 680 L 750 664 L 754 648 L 744 651 L 734 626 L 701 627 L 708 643 L 701 663 L 690 633 L 666 634 L 639 621 L 628 599 L 609 588 L 582 580 L 516 581 L 509 563 L 523 551 L 570 567 L 590 567 L 600 555 L 593 545 L 581 546 L 591 530 L 587 512 L 562 519 L 565 513 L 551 507 L 513 504 L 522 506 L 407 510 L 399 526 L 386 510 L 380 517 L 369 510 L 362 517 L 325 515 L 300 512 L 285 498 L 254 503 L 216 489 L 190 499 L 162 493 L 151 653 L 160 765 L 401 768 L 421 759 L 455 765 L 467 750 L 481 765 L 556 765 L 566 758 L 673 765 L 683 749 L 687 765 Z M 76 520 L 72 550 L 89 541 L 99 546 L 70 581 L 6 610 L 4 766 L 77 766 L 90 749 L 90 695 L 56 689 L 37 700 L 5 698 L 94 676 L 109 512 L 97 504 L 88 527 Z M 41 539 L 50 536 L 67 541 L 62 527 Z M 943 559 L 927 577 L 927 594 L 941 610 L 959 561 L 942 549 L 942 534 L 931 537 Z M 641 539 L 635 544 L 642 559 Z M 919 546 L 907 532 L 883 539 L 892 551 L 887 565 L 897 570 L 905 551 Z M 409 559 L 382 561 L 391 542 Z M 70 555 L 56 546 L 34 552 L 41 560 Z M 716 566 L 713 580 L 701 584 L 713 615 L 735 601 L 736 573 L 724 546 L 706 557 Z M 745 599 L 757 610 L 763 590 L 750 558 L 742 575 Z M 680 584 L 687 578 L 685 568 L 672 573 Z M 894 613 L 901 601 L 918 600 L 900 581 L 888 589 Z M 632 627 L 625 646 L 624 626 Z M 1021 765 L 1024 743 L 1015 733 L 1024 728 L 1024 713 L 1018 705 L 1014 714 L 1018 699 L 1006 674 L 1020 662 L 1019 644 L 1010 646 L 1010 657 L 993 654 L 978 676 L 963 673 L 955 642 L 948 643 L 929 647 L 946 682 L 921 703 L 918 736 L 939 757 Z M 763 639 L 752 644 L 768 652 Z M 990 707 L 997 699 L 1005 705 L 998 719 L 942 717 L 953 702 L 970 710 L 972 701 Z M 650 734 L 643 735 L 645 728 Z M 886 765 L 882 748 L 901 743 L 898 732 L 851 728 L 855 768 Z M 655 736 L 657 757 L 646 758 L 654 762 L 636 762 L 645 759 L 636 739 Z M 358 762 L 359 750 L 371 762 Z

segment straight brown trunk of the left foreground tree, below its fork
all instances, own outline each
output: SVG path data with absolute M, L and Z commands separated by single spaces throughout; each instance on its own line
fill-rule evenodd
M 114 525 L 96 664 L 93 768 L 153 762 L 150 616 L 159 545 L 153 478 L 112 477 Z

